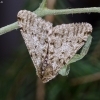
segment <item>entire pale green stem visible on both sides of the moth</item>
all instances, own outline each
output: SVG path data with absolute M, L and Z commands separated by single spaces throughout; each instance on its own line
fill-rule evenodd
M 46 0 L 43 0 L 44 3 Z M 43 4 L 44 4 L 43 3 Z M 41 6 L 43 7 L 43 6 Z M 61 14 L 76 14 L 76 13 L 100 13 L 100 7 L 91 7 L 91 8 L 75 8 L 75 9 L 63 9 L 63 10 L 51 10 L 47 8 L 38 8 L 34 13 L 38 16 L 43 17 L 46 15 L 61 15 Z M 7 25 L 5 27 L 0 28 L 0 35 L 10 32 L 14 29 L 18 29 L 18 23 L 15 22 L 13 24 Z

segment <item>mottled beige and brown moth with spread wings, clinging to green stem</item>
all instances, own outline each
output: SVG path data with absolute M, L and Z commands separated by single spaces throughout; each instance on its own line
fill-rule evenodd
M 76 54 L 92 32 L 89 23 L 62 24 L 55 27 L 27 10 L 18 12 L 18 24 L 43 83 L 53 79 Z

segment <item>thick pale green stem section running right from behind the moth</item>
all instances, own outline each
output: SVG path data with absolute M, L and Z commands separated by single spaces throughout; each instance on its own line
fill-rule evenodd
M 90 7 L 90 8 L 75 8 L 75 9 L 37 9 L 34 11 L 38 16 L 46 16 L 46 15 L 62 15 L 62 14 L 77 14 L 77 13 L 100 13 L 100 7 Z

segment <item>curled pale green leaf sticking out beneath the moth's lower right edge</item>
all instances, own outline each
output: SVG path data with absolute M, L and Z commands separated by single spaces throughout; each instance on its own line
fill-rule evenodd
M 83 46 L 83 48 L 81 50 L 81 53 L 80 54 L 75 54 L 72 57 L 72 59 L 70 59 L 70 61 L 59 71 L 59 74 L 61 74 L 62 76 L 68 75 L 68 73 L 69 73 L 68 65 L 70 63 L 73 63 L 73 62 L 76 62 L 78 60 L 81 60 L 87 54 L 87 52 L 88 52 L 88 50 L 90 48 L 91 42 L 92 42 L 92 36 L 89 35 L 85 45 Z

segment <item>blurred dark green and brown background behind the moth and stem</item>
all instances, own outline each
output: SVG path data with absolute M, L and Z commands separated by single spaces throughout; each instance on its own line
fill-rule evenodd
M 21 9 L 34 11 L 42 0 L 0 1 L 0 27 L 17 20 Z M 99 7 L 100 0 L 48 0 L 48 8 Z M 54 25 L 89 22 L 93 41 L 84 59 L 71 64 L 68 77 L 58 75 L 43 84 L 19 29 L 0 36 L 0 100 L 100 100 L 100 14 L 46 16 Z

